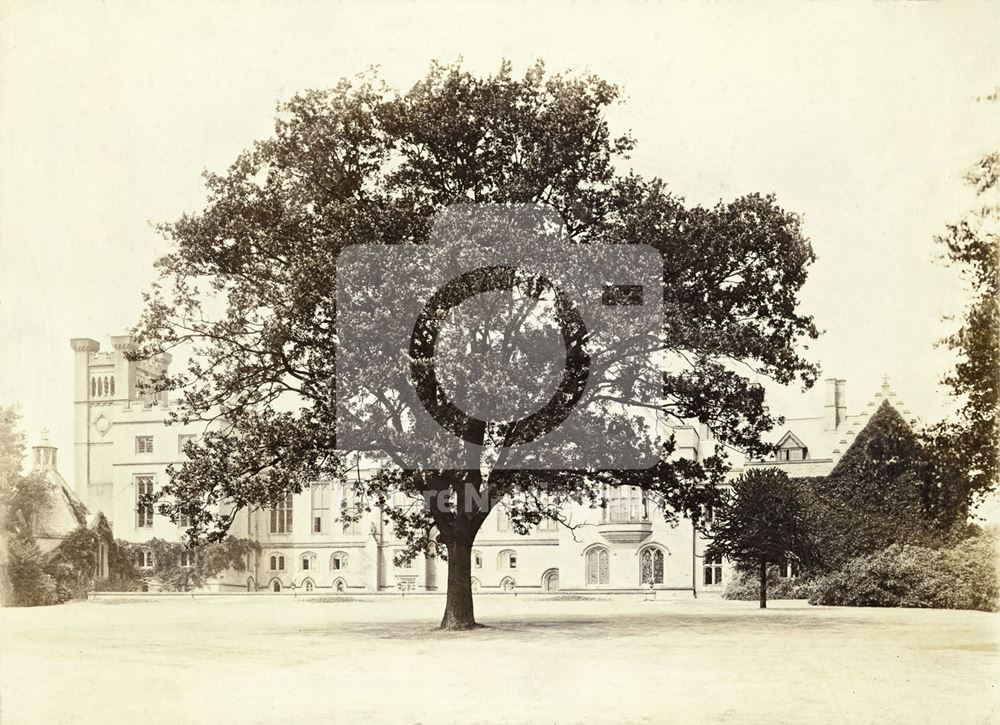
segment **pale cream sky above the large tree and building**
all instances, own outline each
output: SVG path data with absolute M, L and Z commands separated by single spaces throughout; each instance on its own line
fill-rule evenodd
M 801 309 L 850 413 L 888 374 L 921 420 L 948 407 L 935 341 L 960 314 L 933 238 L 1000 146 L 995 3 L 138 2 L 7 0 L 0 11 L 0 404 L 70 470 L 72 352 L 138 318 L 153 225 L 200 209 L 297 91 L 379 66 L 406 89 L 434 60 L 509 59 L 618 84 L 633 167 L 690 203 L 773 192 L 817 254 Z M 770 389 L 819 414 L 822 385 Z

